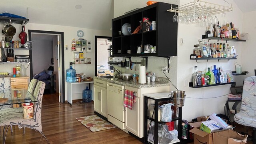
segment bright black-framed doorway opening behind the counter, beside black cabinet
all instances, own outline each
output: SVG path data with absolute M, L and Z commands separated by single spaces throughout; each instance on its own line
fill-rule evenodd
M 98 69 L 113 70 L 113 66 L 108 64 L 109 57 L 112 56 L 112 37 L 95 36 L 95 76 Z

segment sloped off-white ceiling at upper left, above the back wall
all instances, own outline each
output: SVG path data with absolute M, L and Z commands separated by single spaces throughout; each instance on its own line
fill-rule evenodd
M 0 10 L 28 17 L 30 23 L 110 30 L 114 0 L 12 0 L 1 2 Z

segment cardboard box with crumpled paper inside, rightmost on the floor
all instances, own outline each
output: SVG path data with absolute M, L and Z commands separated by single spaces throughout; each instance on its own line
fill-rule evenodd
M 213 144 L 246 144 L 248 136 L 234 130 L 225 130 L 213 134 Z

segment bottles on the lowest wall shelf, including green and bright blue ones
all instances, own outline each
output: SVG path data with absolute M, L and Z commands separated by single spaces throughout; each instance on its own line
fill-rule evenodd
M 210 71 L 210 68 L 206 72 L 198 71 L 197 66 L 194 66 L 194 73 L 192 74 L 193 86 L 206 86 L 211 84 L 221 84 L 227 82 L 234 82 L 232 73 L 225 72 L 222 68 L 216 68 Z

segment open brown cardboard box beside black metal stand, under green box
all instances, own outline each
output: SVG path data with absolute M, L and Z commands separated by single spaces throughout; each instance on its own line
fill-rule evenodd
M 207 132 L 200 130 L 201 123 L 202 122 L 190 123 L 190 125 L 194 127 L 192 130 L 189 131 L 194 134 L 194 144 L 214 144 L 213 143 L 214 133 L 209 134 Z M 226 131 L 226 130 L 221 130 L 221 131 Z M 225 144 L 225 143 L 216 143 L 216 144 Z

